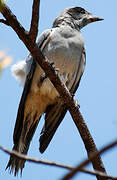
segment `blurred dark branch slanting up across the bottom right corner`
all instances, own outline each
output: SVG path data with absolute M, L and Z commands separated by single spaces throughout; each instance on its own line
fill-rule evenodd
M 94 159 L 98 153 L 104 153 L 107 150 L 110 150 L 112 147 L 117 145 L 117 140 L 109 143 L 107 146 L 103 147 L 99 152 L 93 152 L 90 156 L 90 159 L 86 159 L 85 161 L 81 162 L 76 168 L 74 168 L 70 173 L 68 173 L 62 180 L 69 180 L 71 179 L 76 173 L 80 171 L 83 167 L 90 163 L 92 159 Z

